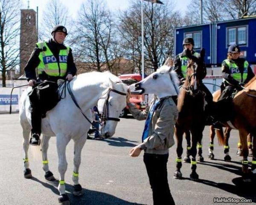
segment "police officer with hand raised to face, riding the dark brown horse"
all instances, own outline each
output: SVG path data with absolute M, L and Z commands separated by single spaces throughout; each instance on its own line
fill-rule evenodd
M 177 76 L 180 80 L 180 86 L 183 85 L 183 83 L 186 80 L 186 72 L 187 72 L 187 65 L 189 62 L 189 58 L 186 56 L 186 50 L 189 49 L 189 51 L 191 52 L 191 54 L 197 58 L 200 58 L 200 54 L 194 51 L 194 40 L 191 37 L 186 37 L 183 39 L 183 48 L 184 50 L 178 54 L 175 57 L 175 61 L 174 61 L 174 71 L 177 73 Z M 207 70 L 206 70 L 206 65 L 204 63 L 204 71 L 203 71 L 203 76 L 201 76 L 201 83 L 200 83 L 200 89 L 201 91 L 203 91 L 205 93 L 205 100 L 207 102 L 207 107 L 205 109 L 205 115 L 206 115 L 206 123 L 207 124 L 212 124 L 212 117 L 210 117 L 211 113 L 212 113 L 212 104 L 213 104 L 213 98 L 212 98 L 212 94 L 211 92 L 208 90 L 208 88 L 204 85 L 204 83 L 202 82 L 202 80 L 204 79 L 204 77 L 207 74 Z M 175 100 L 175 103 L 177 104 L 177 100 Z

